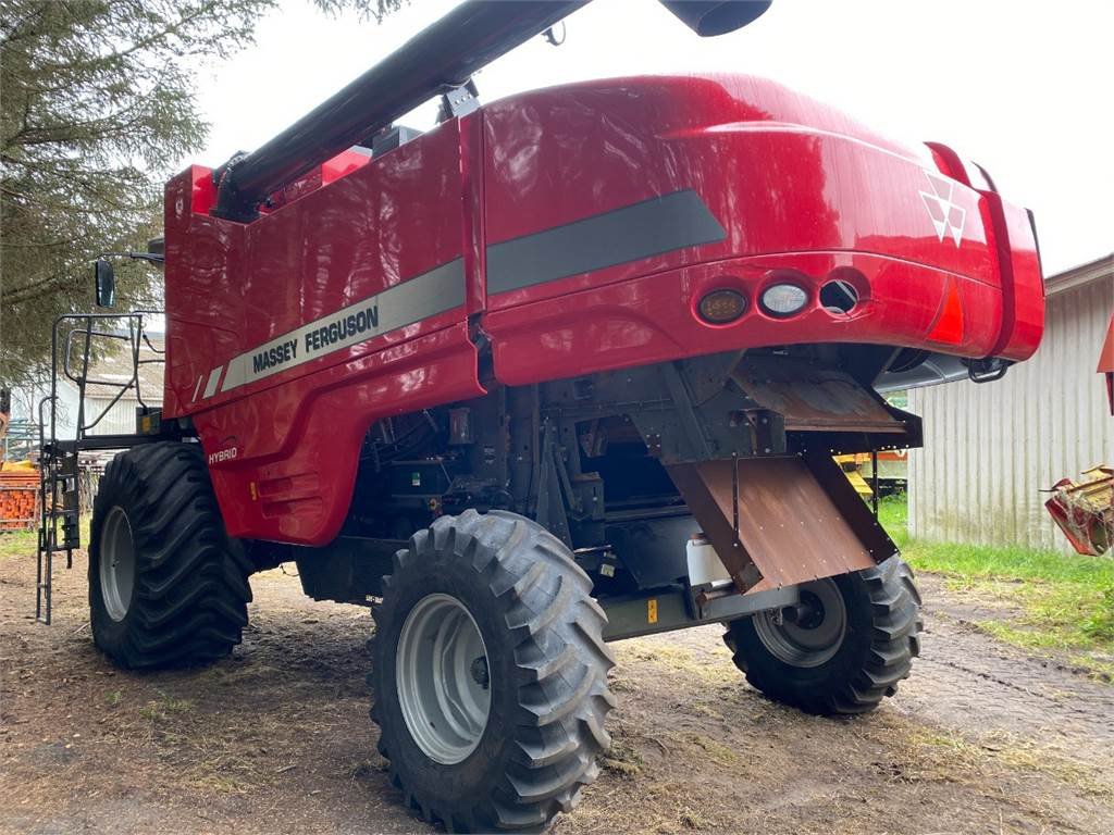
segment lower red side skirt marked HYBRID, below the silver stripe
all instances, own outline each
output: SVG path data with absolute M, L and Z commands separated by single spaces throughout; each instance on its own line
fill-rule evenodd
M 315 374 L 312 389 L 276 386 L 199 413 L 194 423 L 228 532 L 331 541 L 371 423 L 482 395 L 476 367 L 467 326 L 458 324 Z

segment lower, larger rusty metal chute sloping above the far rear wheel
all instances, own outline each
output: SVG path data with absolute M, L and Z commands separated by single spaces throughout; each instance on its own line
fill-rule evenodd
M 829 491 L 846 491 L 868 518 L 869 511 L 831 465 L 839 475 L 834 488 L 795 455 L 673 464 L 668 471 L 736 586 L 758 591 L 876 563 L 872 544 L 848 519 L 853 513 L 840 509 L 846 497 Z

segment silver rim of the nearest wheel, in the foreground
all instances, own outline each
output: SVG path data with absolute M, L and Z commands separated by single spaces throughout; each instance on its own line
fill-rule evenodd
M 399 705 L 430 759 L 453 765 L 480 744 L 491 711 L 487 647 L 471 612 L 450 595 L 427 595 L 402 623 L 395 655 Z

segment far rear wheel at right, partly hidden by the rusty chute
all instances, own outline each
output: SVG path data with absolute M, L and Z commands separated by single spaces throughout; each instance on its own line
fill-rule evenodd
M 732 621 L 735 666 L 810 714 L 862 714 L 893 696 L 920 652 L 920 595 L 900 557 L 801 586 L 801 606 Z

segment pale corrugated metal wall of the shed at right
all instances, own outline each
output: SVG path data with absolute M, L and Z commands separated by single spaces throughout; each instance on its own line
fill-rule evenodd
M 1114 276 L 1048 297 L 1032 360 L 997 383 L 909 392 L 925 449 L 909 453 L 909 532 L 951 542 L 1069 551 L 1042 489 L 1114 463 L 1114 418 L 1095 373 Z

